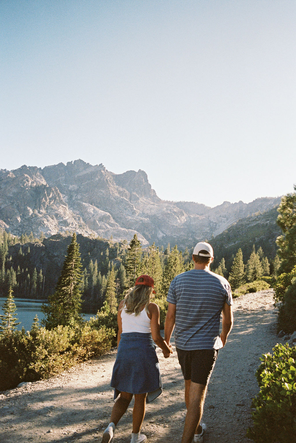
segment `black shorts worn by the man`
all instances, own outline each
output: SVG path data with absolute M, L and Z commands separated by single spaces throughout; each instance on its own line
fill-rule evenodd
M 217 360 L 218 350 L 198 349 L 188 351 L 176 348 L 176 351 L 184 379 L 200 385 L 207 385 Z

